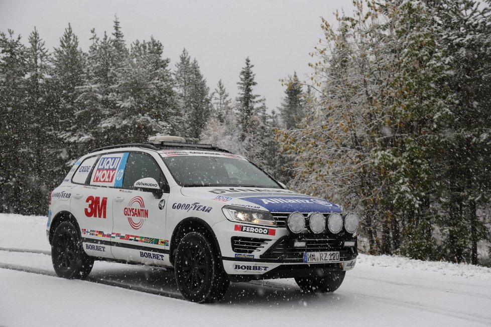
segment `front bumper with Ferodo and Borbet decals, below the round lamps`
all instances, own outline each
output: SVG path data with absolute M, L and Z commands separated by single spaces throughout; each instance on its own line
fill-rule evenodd
M 216 225 L 223 268 L 232 281 L 320 276 L 350 270 L 358 255 L 356 236 L 343 232 L 293 235 L 286 228 L 275 228 L 274 233 L 258 234 L 237 229 L 236 223 L 229 221 Z M 339 261 L 304 262 L 305 253 L 330 251 L 339 252 Z

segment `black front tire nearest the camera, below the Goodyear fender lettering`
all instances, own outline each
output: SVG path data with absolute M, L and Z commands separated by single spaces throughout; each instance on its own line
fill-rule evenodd
M 199 232 L 186 234 L 179 242 L 174 271 L 177 287 L 189 301 L 217 302 L 230 285 L 216 250 Z

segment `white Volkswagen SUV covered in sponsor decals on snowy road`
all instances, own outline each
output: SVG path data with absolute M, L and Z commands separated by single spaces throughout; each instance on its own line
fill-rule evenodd
M 195 302 L 219 300 L 230 281 L 341 285 L 358 254 L 356 215 L 285 189 L 240 155 L 168 139 L 75 162 L 50 195 L 46 233 L 59 276 L 85 278 L 97 259 L 174 267 Z

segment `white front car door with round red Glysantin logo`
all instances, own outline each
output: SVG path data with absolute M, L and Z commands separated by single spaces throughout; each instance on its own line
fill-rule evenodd
M 157 161 L 149 153 L 130 152 L 122 183 L 113 197 L 112 253 L 115 258 L 146 264 L 169 264 L 165 239 L 165 208 L 168 192 L 157 197 L 152 192 L 134 189 L 136 181 L 153 178 L 168 189 Z M 157 198 L 156 198 L 157 197 Z

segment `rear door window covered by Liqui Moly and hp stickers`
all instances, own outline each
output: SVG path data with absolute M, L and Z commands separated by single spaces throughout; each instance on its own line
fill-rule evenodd
M 120 187 L 128 154 L 125 152 L 101 155 L 90 178 L 90 185 Z

